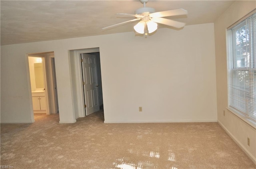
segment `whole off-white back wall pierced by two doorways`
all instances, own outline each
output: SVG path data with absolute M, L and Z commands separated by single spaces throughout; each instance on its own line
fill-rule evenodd
M 60 122 L 76 122 L 68 50 L 95 47 L 105 122 L 217 121 L 214 25 L 201 24 L 147 38 L 128 32 L 2 46 L 1 122 L 32 121 L 25 54 L 47 51 L 55 55 Z

